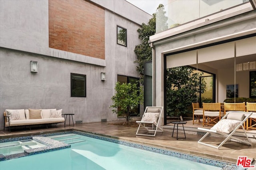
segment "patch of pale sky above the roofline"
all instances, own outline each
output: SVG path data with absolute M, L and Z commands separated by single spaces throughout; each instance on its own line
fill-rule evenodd
M 137 6 L 148 14 L 152 15 L 156 12 L 156 8 L 159 4 L 163 4 L 164 6 L 168 4 L 168 0 L 126 0 L 131 4 Z

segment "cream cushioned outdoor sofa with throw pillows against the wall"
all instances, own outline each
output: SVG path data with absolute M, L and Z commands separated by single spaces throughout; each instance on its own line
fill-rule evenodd
M 62 109 L 6 109 L 4 111 L 4 130 L 6 127 L 42 125 L 64 122 Z M 48 128 L 48 127 L 47 127 Z

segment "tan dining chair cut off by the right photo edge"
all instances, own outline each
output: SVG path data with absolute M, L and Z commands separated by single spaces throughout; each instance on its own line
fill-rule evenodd
M 246 110 L 252 112 L 252 115 L 246 121 L 246 130 L 256 129 L 256 103 L 246 102 Z

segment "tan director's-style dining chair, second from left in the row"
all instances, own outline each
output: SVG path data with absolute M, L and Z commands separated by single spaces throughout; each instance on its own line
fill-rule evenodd
M 203 103 L 203 126 L 215 125 L 222 116 L 224 112 L 221 111 L 220 103 Z

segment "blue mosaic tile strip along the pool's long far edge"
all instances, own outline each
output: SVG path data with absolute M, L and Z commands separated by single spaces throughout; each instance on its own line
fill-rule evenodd
M 125 146 L 128 146 L 128 147 L 134 147 L 134 148 L 137 148 L 137 149 L 148 150 L 150 152 L 156 152 L 156 153 L 160 153 L 160 154 L 164 154 L 164 155 L 168 155 L 168 156 L 174 156 L 176 158 L 182 158 L 182 159 L 190 160 L 190 161 L 193 161 L 193 162 L 212 165 L 212 166 L 222 168 L 223 170 L 238 170 L 238 167 L 235 164 L 230 164 L 230 163 L 227 163 L 227 162 L 212 160 L 212 159 L 208 159 L 208 158 L 202 158 L 202 157 L 199 157 L 199 156 L 192 156 L 192 155 L 189 155 L 189 154 L 184 154 L 184 153 L 180 153 L 180 152 L 174 152 L 174 151 L 171 151 L 171 150 L 165 150 L 165 149 L 150 147 L 150 146 L 146 146 L 146 145 L 140 145 L 140 144 L 136 144 L 136 143 L 130 143 L 130 142 L 126 142 L 126 141 L 120 141 L 120 140 L 117 140 L 117 139 L 111 139 L 111 138 L 108 138 L 108 137 L 102 137 L 102 136 L 98 136 L 98 135 L 94 135 L 94 134 L 90 134 L 90 133 L 84 133 L 84 132 L 79 132 L 79 131 L 73 131 L 73 133 L 75 133 L 77 135 L 91 137 L 91 138 L 94 138 L 94 139 L 100 139 L 100 140 L 103 140 L 103 141 L 108 141 L 108 142 L 117 143 L 117 144 L 120 144 L 120 145 L 125 145 Z

